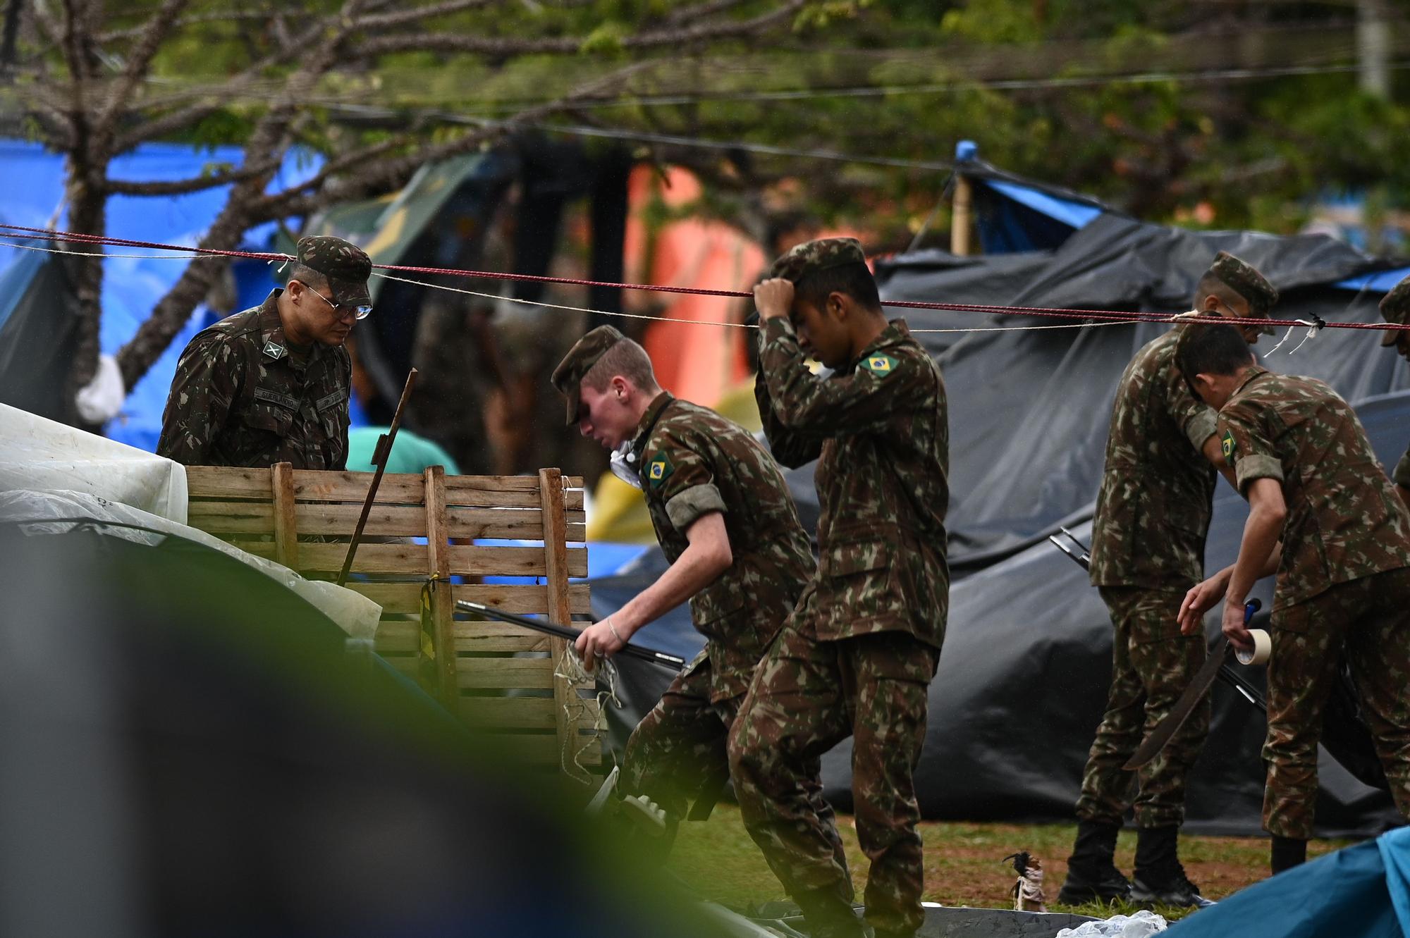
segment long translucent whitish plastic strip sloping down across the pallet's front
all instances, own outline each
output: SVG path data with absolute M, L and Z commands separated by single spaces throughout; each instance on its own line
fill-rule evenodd
M 185 480 L 185 476 L 182 479 Z M 382 607 L 361 593 L 337 586 L 336 583 L 306 580 L 283 565 L 245 554 L 197 528 L 176 524 L 149 511 L 142 511 L 141 508 L 134 508 L 87 492 L 37 492 L 32 489 L 0 492 L 0 520 L 31 523 L 24 525 L 24 531 L 28 534 L 59 534 L 73 528 L 72 523 L 58 521 L 58 518 L 92 518 L 94 521 L 137 524 L 144 528 L 166 531 L 196 541 L 213 551 L 220 551 L 243 563 L 248 563 L 261 573 L 278 580 L 317 607 L 320 613 L 337 623 L 350 637 L 371 641 L 376 634 L 376 623 L 382 615 Z M 104 534 L 127 538 L 138 544 L 155 544 L 165 537 L 162 534 L 117 527 L 104 528 Z

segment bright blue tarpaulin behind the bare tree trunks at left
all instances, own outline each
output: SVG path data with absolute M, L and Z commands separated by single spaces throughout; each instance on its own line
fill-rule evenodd
M 238 166 L 238 146 L 193 148 L 179 144 L 144 144 L 134 152 L 118 156 L 111 165 L 113 179 L 135 182 L 171 182 L 200 176 L 203 172 Z M 281 190 L 312 176 L 323 158 L 307 152 L 290 152 L 271 182 L 271 190 Z M 0 166 L 4 169 L 6 196 L 0 201 L 0 221 L 16 225 L 63 228 L 63 156 L 45 151 L 38 144 L 0 139 Z M 226 204 L 230 186 L 217 186 L 185 196 L 111 196 L 107 200 L 107 231 L 120 238 L 155 241 L 162 244 L 195 245 Z M 245 249 L 264 251 L 274 234 L 274 225 L 252 228 L 245 234 Z M 0 231 L 0 272 L 16 265 L 30 251 L 14 245 L 55 246 L 48 242 L 23 241 Z M 69 251 L 90 251 L 82 245 L 58 245 Z M 152 251 L 107 248 L 103 269 L 102 348 L 111 355 L 133 338 L 137 327 L 151 314 L 152 307 L 176 282 L 189 255 L 154 258 Z M 142 255 L 142 256 L 133 256 Z M 39 255 L 47 256 L 47 255 Z M 258 303 L 275 286 L 268 266 L 244 262 L 248 270 L 237 270 L 237 308 Z M 171 346 L 147 375 L 131 389 L 123 411 L 104 428 L 113 439 L 152 451 L 161 432 L 166 392 L 176 370 L 182 348 L 199 330 L 214 320 L 199 306 L 186 328 L 172 339 Z

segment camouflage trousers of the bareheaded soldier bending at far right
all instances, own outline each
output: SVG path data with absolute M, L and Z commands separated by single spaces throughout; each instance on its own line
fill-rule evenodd
M 1263 828 L 1313 834 L 1317 744 L 1342 655 L 1396 808 L 1410 818 L 1410 568 L 1338 583 L 1279 610 L 1272 639 Z

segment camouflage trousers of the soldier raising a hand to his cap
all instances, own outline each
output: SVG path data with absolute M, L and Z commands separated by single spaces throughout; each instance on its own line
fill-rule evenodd
M 852 737 L 857 839 L 871 861 L 867 921 L 900 932 L 924 921 L 911 776 L 938 655 L 905 632 L 818 641 L 788 624 L 754 670 L 729 737 L 730 775 L 749 835 L 794 897 L 830 889 L 852 900 L 836 827 L 805 784 L 822 753 Z

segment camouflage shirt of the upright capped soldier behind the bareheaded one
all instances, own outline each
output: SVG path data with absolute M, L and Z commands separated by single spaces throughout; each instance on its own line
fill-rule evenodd
M 1175 363 L 1179 334 L 1146 342 L 1121 373 L 1091 523 L 1094 586 L 1170 589 L 1204 576 L 1215 473 L 1203 446 L 1215 417 Z

